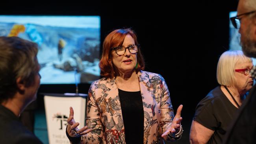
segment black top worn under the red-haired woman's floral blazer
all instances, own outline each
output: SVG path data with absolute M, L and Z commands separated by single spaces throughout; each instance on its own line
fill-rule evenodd
M 118 89 L 126 144 L 143 144 L 144 111 L 141 92 Z

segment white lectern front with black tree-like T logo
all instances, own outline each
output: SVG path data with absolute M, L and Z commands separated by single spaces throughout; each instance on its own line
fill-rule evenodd
M 74 120 L 78 128 L 85 126 L 85 97 L 45 96 L 45 114 L 49 144 L 69 144 L 66 136 L 69 107 L 74 109 Z

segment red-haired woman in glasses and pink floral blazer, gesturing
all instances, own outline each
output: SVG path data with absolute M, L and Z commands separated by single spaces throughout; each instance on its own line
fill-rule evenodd
M 100 60 L 104 78 L 91 84 L 86 125 L 76 127 L 70 107 L 67 137 L 72 143 L 138 144 L 178 140 L 180 113 L 174 117 L 169 90 L 160 74 L 143 71 L 145 62 L 137 36 L 118 29 L 103 42 Z

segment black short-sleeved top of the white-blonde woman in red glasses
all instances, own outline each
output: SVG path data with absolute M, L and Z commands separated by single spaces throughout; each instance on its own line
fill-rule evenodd
M 193 120 L 214 131 L 208 144 L 221 144 L 236 112 L 237 107 L 228 100 L 219 86 L 198 103 Z

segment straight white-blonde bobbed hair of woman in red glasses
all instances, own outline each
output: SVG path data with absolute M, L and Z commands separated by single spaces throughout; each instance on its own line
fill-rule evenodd
M 245 56 L 241 50 L 229 50 L 221 55 L 217 65 L 217 81 L 220 85 L 231 86 L 236 83 L 234 74 L 238 61 L 252 62 L 252 58 Z

